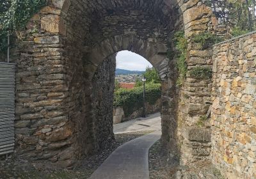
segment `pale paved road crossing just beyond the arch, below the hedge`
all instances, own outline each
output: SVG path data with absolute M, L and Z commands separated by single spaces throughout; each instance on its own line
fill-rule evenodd
M 118 123 L 113 125 L 113 127 L 115 134 L 140 130 L 161 130 L 161 115 L 160 113 L 151 114 L 147 118 L 137 118 L 124 123 Z

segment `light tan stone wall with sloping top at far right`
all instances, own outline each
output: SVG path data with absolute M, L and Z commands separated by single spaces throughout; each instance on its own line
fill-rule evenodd
M 214 47 L 212 160 L 227 178 L 256 178 L 256 33 Z

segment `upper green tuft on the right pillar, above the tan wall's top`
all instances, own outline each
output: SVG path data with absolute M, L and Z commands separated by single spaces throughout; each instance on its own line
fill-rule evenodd
M 208 47 L 211 47 L 215 43 L 219 43 L 223 41 L 223 38 L 220 36 L 213 35 L 209 32 L 203 32 L 199 33 L 198 35 L 193 36 L 191 38 L 192 42 L 199 43 L 202 49 L 207 49 Z

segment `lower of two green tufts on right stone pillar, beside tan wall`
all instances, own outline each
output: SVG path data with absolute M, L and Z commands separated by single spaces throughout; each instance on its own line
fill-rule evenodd
M 196 66 L 189 71 L 189 75 L 195 79 L 211 79 L 212 70 L 209 67 Z

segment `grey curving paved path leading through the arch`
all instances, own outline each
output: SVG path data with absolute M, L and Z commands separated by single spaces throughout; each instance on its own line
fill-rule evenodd
M 148 149 L 161 137 L 161 130 L 118 147 L 90 179 L 148 179 Z

